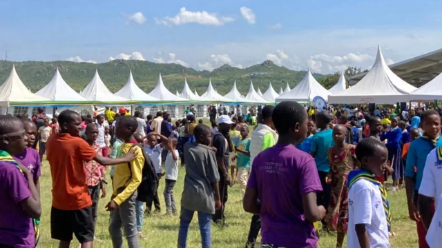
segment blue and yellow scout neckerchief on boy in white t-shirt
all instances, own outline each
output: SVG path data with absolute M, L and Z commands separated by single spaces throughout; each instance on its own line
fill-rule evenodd
M 382 203 L 385 211 L 385 217 L 387 217 L 387 226 L 388 231 L 392 232 L 392 213 L 390 211 L 390 203 L 388 202 L 387 198 L 387 190 L 385 187 L 380 183 L 372 174 L 367 172 L 365 169 L 356 169 L 349 173 L 348 180 L 347 180 L 347 187 L 350 190 L 352 185 L 356 183 L 356 181 L 360 179 L 368 180 L 369 182 L 373 183 L 374 185 L 378 186 L 379 190 L 381 191 L 381 197 L 382 197 Z

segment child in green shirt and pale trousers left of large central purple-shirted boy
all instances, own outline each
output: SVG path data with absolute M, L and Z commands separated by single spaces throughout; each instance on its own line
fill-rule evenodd
M 247 177 L 249 176 L 250 171 L 250 142 L 251 139 L 249 137 L 249 127 L 242 126 L 240 128 L 241 139 L 238 141 L 238 145 L 236 145 L 235 150 L 237 152 L 236 158 L 236 167 L 238 168 L 238 176 L 237 180 L 240 183 L 240 187 L 242 190 L 242 196 L 244 197 L 244 193 L 246 192 L 247 186 Z

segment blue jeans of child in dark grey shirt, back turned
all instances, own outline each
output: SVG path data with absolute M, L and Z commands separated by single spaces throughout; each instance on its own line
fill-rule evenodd
M 194 211 L 181 207 L 180 231 L 178 232 L 178 248 L 187 247 L 187 232 L 189 231 L 189 225 L 191 224 L 193 218 L 193 212 Z M 211 247 L 211 220 L 211 214 L 198 211 L 198 223 L 200 224 L 202 248 Z

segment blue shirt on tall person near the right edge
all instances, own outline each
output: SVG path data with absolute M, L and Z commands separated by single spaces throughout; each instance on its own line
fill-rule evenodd
M 442 145 L 442 138 L 436 143 L 436 147 Z M 416 138 L 410 144 L 407 153 L 407 166 L 405 167 L 405 176 L 409 178 L 414 177 L 414 166 L 416 166 L 416 184 L 414 189 L 419 190 L 422 181 L 423 168 L 425 167 L 425 161 L 427 156 L 434 149 L 434 145 L 430 141 L 426 141 L 424 138 Z

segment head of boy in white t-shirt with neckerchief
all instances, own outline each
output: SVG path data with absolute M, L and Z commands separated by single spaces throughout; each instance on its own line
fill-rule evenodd
M 385 144 L 376 138 L 365 138 L 356 146 L 356 158 L 361 168 L 380 176 L 387 166 L 388 150 Z

